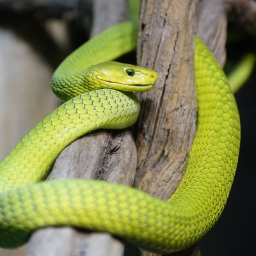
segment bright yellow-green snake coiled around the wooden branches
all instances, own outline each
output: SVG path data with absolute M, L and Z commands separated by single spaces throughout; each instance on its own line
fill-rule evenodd
M 182 250 L 204 236 L 227 202 L 240 125 L 225 74 L 197 37 L 195 44 L 198 128 L 186 173 L 173 196 L 163 201 L 99 180 L 40 182 L 61 150 L 83 134 L 136 122 L 140 104 L 129 91 L 150 90 L 157 74 L 109 61 L 136 46 L 131 22 L 124 22 L 61 63 L 52 89 L 67 102 L 36 125 L 0 164 L 0 246 L 20 246 L 33 230 L 60 225 L 110 232 L 161 253 Z

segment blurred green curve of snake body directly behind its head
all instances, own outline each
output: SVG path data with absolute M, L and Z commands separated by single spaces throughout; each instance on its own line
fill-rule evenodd
M 88 67 L 115 60 L 131 52 L 136 48 L 136 41 L 136 29 L 130 21 L 106 29 L 81 45 L 61 63 L 52 76 L 52 91 L 61 100 L 66 101 L 92 90 L 91 81 L 84 79 Z M 88 85 L 85 84 L 87 82 Z M 93 90 L 99 89 L 97 87 L 102 88 L 102 86 L 96 86 Z

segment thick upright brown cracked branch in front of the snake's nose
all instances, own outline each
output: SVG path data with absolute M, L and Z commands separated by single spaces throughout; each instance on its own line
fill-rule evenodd
M 156 70 L 159 79 L 154 90 L 140 95 L 135 185 L 163 199 L 170 198 L 182 179 L 196 130 L 196 4 L 188 0 L 141 3 L 138 63 Z

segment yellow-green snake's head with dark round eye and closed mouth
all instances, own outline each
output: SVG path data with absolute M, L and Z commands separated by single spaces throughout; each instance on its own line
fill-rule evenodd
M 106 61 L 88 68 L 87 76 L 98 83 L 97 87 L 113 88 L 126 92 L 145 92 L 153 88 L 157 73 L 148 68 L 116 61 Z M 98 87 L 99 88 L 99 87 Z

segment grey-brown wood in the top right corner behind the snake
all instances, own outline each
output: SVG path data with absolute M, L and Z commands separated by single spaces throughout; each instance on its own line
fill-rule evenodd
M 252 0 L 202 0 L 198 5 L 196 33 L 211 49 L 221 67 L 226 61 L 228 20 L 256 37 L 256 2 Z

